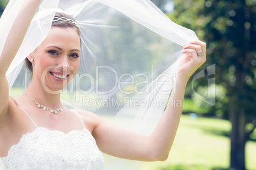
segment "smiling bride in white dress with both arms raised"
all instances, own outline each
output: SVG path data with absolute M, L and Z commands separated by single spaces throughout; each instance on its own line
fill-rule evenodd
M 26 58 L 32 79 L 21 95 L 9 96 L 6 72 L 24 40 L 39 0 L 22 3 L 0 58 L 0 157 L 6 169 L 102 169 L 104 152 L 131 160 L 166 160 L 181 106 L 167 108 L 150 136 L 117 128 L 98 115 L 62 105 L 59 93 L 80 66 L 80 25 L 56 13 L 52 27 Z M 202 41 L 183 45 L 170 98 L 183 101 L 190 76 L 206 61 Z M 42 78 L 43 77 L 43 78 Z M 170 101 L 169 101 L 170 102 Z

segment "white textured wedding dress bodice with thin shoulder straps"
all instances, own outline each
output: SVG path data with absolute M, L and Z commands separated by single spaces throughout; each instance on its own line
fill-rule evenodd
M 82 119 L 83 130 L 68 134 L 38 127 L 31 121 L 36 129 L 24 134 L 16 145 L 11 146 L 8 155 L 1 158 L 4 169 L 103 169 L 103 155 Z

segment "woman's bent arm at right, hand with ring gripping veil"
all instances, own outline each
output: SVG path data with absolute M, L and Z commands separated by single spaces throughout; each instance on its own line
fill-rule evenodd
M 206 44 L 196 41 L 183 46 L 179 74 L 159 124 L 150 136 L 141 136 L 99 122 L 93 131 L 97 145 L 106 154 L 133 160 L 166 160 L 180 122 L 185 87 L 190 76 L 206 61 Z M 171 100 L 176 100 L 172 102 Z M 178 103 L 173 105 L 172 103 Z

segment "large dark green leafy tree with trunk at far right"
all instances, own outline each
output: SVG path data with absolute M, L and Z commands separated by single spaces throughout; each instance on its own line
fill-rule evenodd
M 216 82 L 226 89 L 228 98 L 219 109 L 232 124 L 230 167 L 246 169 L 245 144 L 256 126 L 256 1 L 174 3 L 174 12 L 169 17 L 195 30 L 208 43 L 208 63 L 216 63 Z

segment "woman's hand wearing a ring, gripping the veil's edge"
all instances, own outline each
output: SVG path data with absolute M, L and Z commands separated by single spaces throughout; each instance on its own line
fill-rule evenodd
M 183 45 L 183 48 L 185 50 L 182 52 L 178 74 L 188 81 L 191 75 L 206 61 L 206 43 L 198 40 Z

